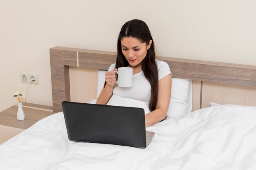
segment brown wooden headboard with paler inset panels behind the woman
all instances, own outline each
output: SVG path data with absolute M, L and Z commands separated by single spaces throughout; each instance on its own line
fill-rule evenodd
M 116 52 L 50 48 L 54 113 L 62 111 L 62 101 L 79 96 L 96 98 L 97 70 L 108 70 L 115 59 Z M 193 110 L 209 107 L 209 102 L 256 106 L 256 66 L 171 57 L 157 59 L 168 63 L 173 78 L 192 80 Z M 81 75 L 74 78 L 74 74 Z

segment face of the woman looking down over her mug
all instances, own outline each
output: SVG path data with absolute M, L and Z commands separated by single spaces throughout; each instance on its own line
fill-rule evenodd
M 122 52 L 124 57 L 132 67 L 141 66 L 141 61 L 146 57 L 147 50 L 150 48 L 152 40 L 141 43 L 139 39 L 134 37 L 124 37 L 121 39 Z

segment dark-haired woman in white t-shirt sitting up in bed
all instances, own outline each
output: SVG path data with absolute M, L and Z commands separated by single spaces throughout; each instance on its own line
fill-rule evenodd
M 133 68 L 132 87 L 116 86 L 119 67 Z M 112 94 L 144 101 L 150 113 L 145 116 L 147 126 L 166 118 L 171 98 L 171 71 L 164 61 L 155 59 L 154 41 L 148 26 L 141 20 L 126 22 L 117 40 L 117 60 L 105 74 L 105 86 L 96 104 L 106 105 Z

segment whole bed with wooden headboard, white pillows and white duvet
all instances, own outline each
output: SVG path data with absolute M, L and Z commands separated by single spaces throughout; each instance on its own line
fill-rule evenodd
M 0 145 L 2 170 L 255 170 L 256 66 L 157 57 L 173 73 L 166 120 L 145 149 L 71 142 L 62 101 L 95 103 L 115 52 L 50 48 L 54 114 Z M 90 81 L 88 81 L 90 80 Z M 144 107 L 124 98 L 110 105 Z

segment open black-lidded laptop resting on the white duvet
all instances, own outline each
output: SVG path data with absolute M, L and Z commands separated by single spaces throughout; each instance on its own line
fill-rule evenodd
M 146 148 L 155 135 L 142 108 L 63 101 L 62 109 L 70 141 Z

